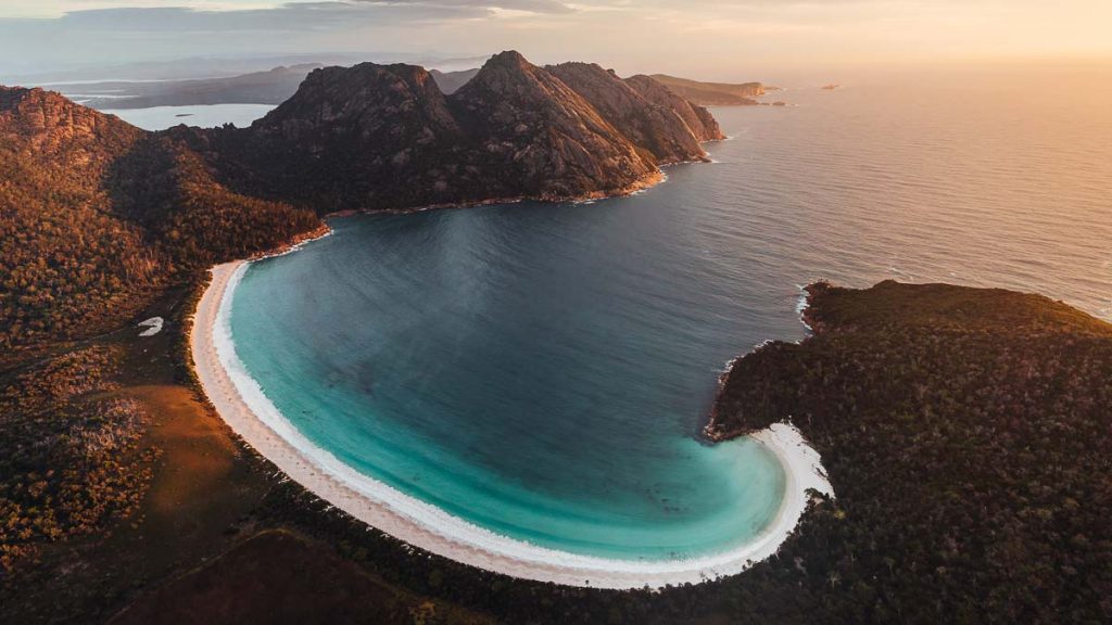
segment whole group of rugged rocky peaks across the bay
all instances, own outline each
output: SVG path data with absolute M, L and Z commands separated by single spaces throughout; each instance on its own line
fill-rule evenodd
M 326 68 L 250 128 L 173 132 L 229 187 L 321 214 L 625 194 L 721 138 L 677 96 L 654 101 L 600 69 L 588 87 L 580 73 L 503 52 L 445 95 L 416 66 Z

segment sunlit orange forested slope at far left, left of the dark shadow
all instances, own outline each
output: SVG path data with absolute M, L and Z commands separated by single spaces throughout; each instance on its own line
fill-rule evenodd
M 105 329 L 157 282 L 101 185 L 143 132 L 41 89 L 0 88 L 0 351 Z

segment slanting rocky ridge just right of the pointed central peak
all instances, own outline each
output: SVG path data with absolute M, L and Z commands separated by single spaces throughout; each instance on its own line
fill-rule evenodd
M 706 152 L 673 108 L 648 101 L 637 90 L 595 63 L 545 68 L 583 96 L 616 129 L 659 163 L 701 160 Z

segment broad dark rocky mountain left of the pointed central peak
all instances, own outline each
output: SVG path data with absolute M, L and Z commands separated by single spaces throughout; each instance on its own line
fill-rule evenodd
M 186 135 L 238 189 L 320 212 L 450 202 L 466 178 L 467 138 L 415 66 L 318 69 L 250 128 Z

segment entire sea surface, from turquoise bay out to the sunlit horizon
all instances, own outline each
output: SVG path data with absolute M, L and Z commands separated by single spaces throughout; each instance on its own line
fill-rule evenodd
M 727 359 L 803 338 L 801 285 L 1001 286 L 1112 319 L 1112 98 L 1070 93 L 790 90 L 716 110 L 716 162 L 637 197 L 336 219 L 247 271 L 236 348 L 318 446 L 477 525 L 722 550 L 784 474 L 697 431 Z

